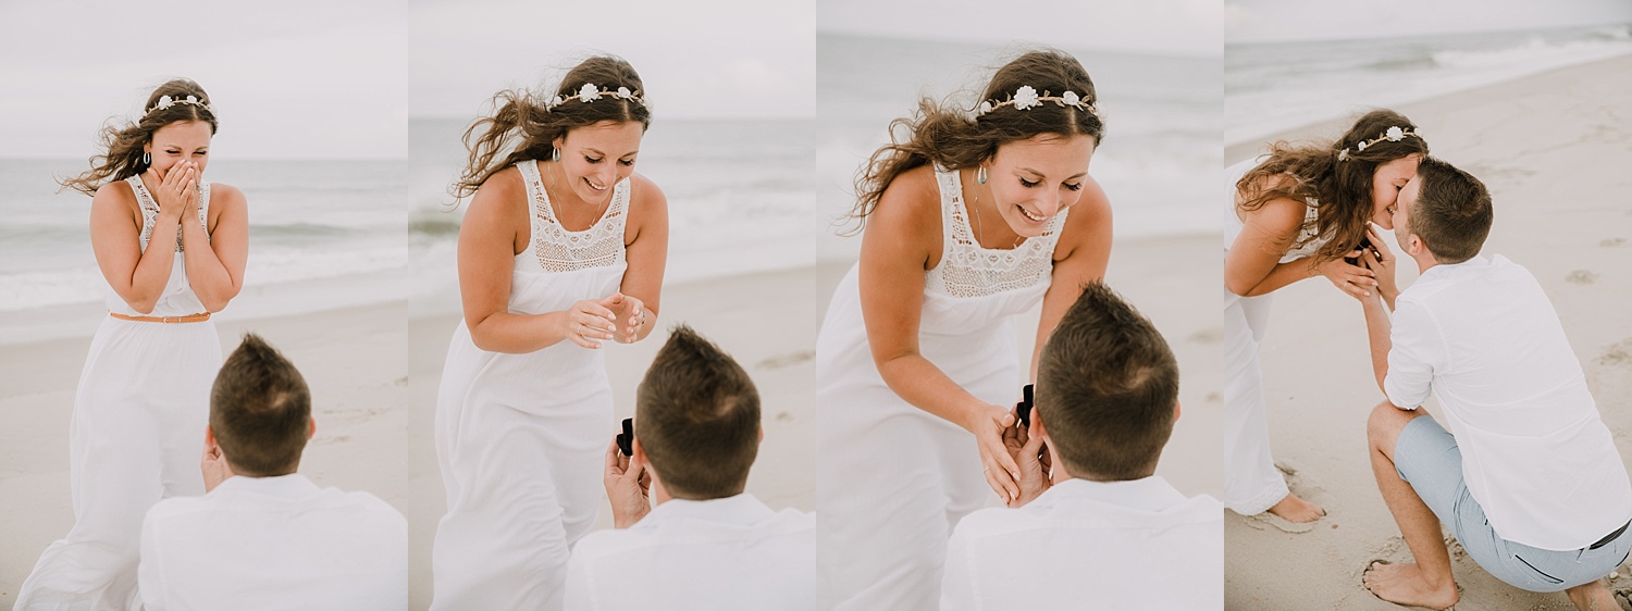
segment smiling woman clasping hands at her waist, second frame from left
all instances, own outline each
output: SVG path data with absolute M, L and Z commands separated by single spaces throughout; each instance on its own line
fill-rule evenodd
M 475 197 L 459 230 L 465 319 L 436 401 L 447 515 L 432 609 L 561 606 L 615 432 L 601 349 L 658 318 L 669 217 L 635 174 L 645 95 L 628 62 L 591 57 L 553 95 L 499 93 L 465 132 L 454 194 Z

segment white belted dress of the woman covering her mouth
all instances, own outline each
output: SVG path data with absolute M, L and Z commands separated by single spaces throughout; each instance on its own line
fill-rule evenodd
M 181 256 L 181 240 L 153 236 L 158 204 L 140 176 L 126 179 L 142 209 L 140 244 L 175 248 L 165 292 L 139 313 L 108 288 L 108 310 L 127 316 L 206 311 Z M 199 222 L 209 228 L 209 184 L 199 184 Z M 39 556 L 16 609 L 135 609 L 142 516 L 160 499 L 204 494 L 199 456 L 209 391 L 220 370 L 212 321 L 149 323 L 106 318 L 91 339 L 69 425 L 73 528 Z

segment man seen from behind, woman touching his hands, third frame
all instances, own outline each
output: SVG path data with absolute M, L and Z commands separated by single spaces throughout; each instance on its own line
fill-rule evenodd
M 1030 429 L 1005 440 L 1023 507 L 958 523 L 942 609 L 1222 608 L 1224 505 L 1155 476 L 1177 419 L 1167 342 L 1087 285 L 1043 347 Z

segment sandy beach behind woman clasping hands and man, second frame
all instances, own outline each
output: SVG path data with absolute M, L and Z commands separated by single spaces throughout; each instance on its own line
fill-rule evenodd
M 645 341 L 607 344 L 607 375 L 614 414 L 635 414 L 635 386 L 667 339 L 685 323 L 731 354 L 759 388 L 765 440 L 749 473 L 747 492 L 770 508 L 816 508 L 816 327 L 826 298 L 818 298 L 811 267 L 708 279 L 663 288 L 658 331 Z M 408 323 L 408 588 L 411 609 L 431 604 L 431 541 L 447 512 L 442 474 L 436 464 L 436 388 L 457 313 L 418 316 Z M 607 442 L 617 433 L 607 429 Z M 602 495 L 596 530 L 610 528 Z

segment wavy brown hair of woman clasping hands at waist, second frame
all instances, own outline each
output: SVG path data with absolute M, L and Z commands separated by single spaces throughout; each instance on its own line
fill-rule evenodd
M 584 85 L 614 91 L 622 86 L 641 99 L 646 98 L 640 73 L 622 57 L 596 55 L 583 60 L 561 77 L 555 96 L 571 98 Z M 527 90 L 506 90 L 493 96 L 493 114 L 477 119 L 465 129 L 463 140 L 470 160 L 447 189 L 455 200 L 470 197 L 481 182 L 516 161 L 550 158 L 555 138 L 578 127 L 602 121 L 640 121 L 641 129 L 651 127 L 650 99 L 638 103 L 605 96 L 588 104 L 568 99 L 565 104 L 548 108 L 550 98 L 553 96 L 537 96 Z M 501 158 L 506 150 L 509 155 Z

